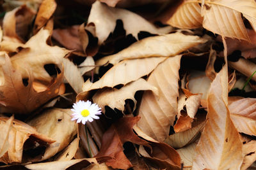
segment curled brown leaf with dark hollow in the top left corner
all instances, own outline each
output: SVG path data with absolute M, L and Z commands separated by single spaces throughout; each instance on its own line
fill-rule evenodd
M 3 38 L 14 42 L 24 42 L 34 17 L 35 11 L 26 5 L 6 13 L 3 20 Z

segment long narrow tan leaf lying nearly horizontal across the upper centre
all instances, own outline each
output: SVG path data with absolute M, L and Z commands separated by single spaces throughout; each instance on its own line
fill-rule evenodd
M 163 36 L 153 36 L 133 43 L 121 52 L 97 60 L 96 64 L 101 65 L 106 62 L 116 64 L 120 62 L 120 60 L 143 57 L 175 56 L 180 52 L 188 50 L 188 48 L 191 48 L 192 46 L 205 43 L 205 41 L 205 39 L 198 36 L 186 36 L 180 32 Z

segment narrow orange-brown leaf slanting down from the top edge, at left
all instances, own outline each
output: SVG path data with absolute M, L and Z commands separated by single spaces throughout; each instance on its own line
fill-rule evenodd
M 54 0 L 44 0 L 40 5 L 38 13 L 35 19 L 35 25 L 33 28 L 34 34 L 38 32 L 47 21 L 51 18 L 52 14 L 56 10 L 57 4 Z

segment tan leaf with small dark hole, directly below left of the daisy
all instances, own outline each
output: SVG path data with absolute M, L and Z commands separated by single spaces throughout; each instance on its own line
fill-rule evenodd
M 46 148 L 44 155 L 39 160 L 49 159 L 63 150 L 77 134 L 77 124 L 71 121 L 71 113 L 70 109 L 54 108 L 28 122 L 29 125 L 36 128 L 36 131 L 56 140 Z

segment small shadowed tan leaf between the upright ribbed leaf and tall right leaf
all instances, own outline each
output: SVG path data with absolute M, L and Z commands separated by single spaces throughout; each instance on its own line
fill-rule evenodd
M 187 131 L 172 134 L 164 140 L 164 143 L 167 143 L 173 148 L 182 148 L 198 138 L 200 131 L 204 129 L 204 125 L 205 124 L 202 123 L 197 125 L 196 127 L 188 129 Z

